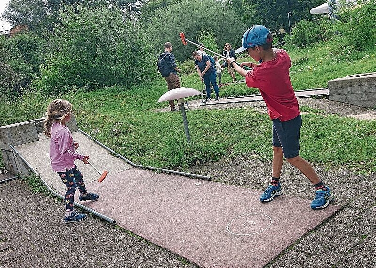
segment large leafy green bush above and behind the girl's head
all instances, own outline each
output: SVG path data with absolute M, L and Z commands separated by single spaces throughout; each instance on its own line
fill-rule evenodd
M 57 93 L 72 88 L 132 86 L 156 76 L 149 42 L 141 29 L 123 22 L 119 9 L 78 4 L 61 12 L 50 40 L 51 54 L 34 86 Z

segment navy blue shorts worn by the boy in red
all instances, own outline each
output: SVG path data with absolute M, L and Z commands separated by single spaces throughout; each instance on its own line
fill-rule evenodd
M 281 122 L 280 119 L 273 119 L 272 145 L 282 147 L 285 158 L 299 156 L 300 150 L 300 128 L 302 117 L 298 115 L 294 119 Z

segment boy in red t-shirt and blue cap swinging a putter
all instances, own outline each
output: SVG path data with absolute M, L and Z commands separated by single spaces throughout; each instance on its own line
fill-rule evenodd
M 260 201 L 269 202 L 275 196 L 282 194 L 280 175 L 284 156 L 314 184 L 316 196 L 311 202 L 311 208 L 326 208 L 333 200 L 334 194 L 328 186 L 323 184 L 313 167 L 299 156 L 302 119 L 298 100 L 290 81 L 291 59 L 283 49 L 272 48 L 272 41 L 272 34 L 265 26 L 255 25 L 245 31 L 243 46 L 235 53 L 247 50 L 250 57 L 261 63 L 243 62 L 238 66 L 233 64 L 234 58 L 228 59 L 228 64 L 245 77 L 248 87 L 260 90 L 268 108 L 268 115 L 273 122 L 272 178 L 271 183 L 260 196 Z M 252 69 L 246 71 L 242 68 L 243 66 Z

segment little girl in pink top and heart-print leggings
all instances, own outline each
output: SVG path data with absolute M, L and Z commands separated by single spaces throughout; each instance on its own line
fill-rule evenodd
M 65 223 L 79 222 L 87 217 L 85 213 L 80 213 L 73 207 L 77 187 L 80 191 L 80 201 L 96 201 L 99 199 L 99 195 L 86 190 L 83 175 L 74 164 L 76 159 L 89 164 L 89 156 L 76 152 L 79 144 L 73 141 L 69 128 L 65 126 L 65 123 L 72 118 L 72 114 L 72 104 L 69 101 L 56 99 L 48 105 L 44 120 L 44 134 L 51 138 L 49 156 L 52 170 L 59 174 L 67 187 L 65 193 Z

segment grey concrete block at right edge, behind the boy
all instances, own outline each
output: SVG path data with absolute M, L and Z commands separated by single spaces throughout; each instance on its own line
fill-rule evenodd
M 357 74 L 328 81 L 329 100 L 360 107 L 376 106 L 376 73 Z

